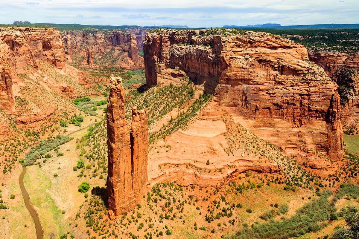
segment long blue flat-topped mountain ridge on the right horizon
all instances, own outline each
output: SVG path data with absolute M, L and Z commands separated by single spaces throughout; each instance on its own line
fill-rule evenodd
M 247 25 L 247 26 L 236 26 L 236 25 L 225 25 L 224 28 L 274 28 L 274 29 L 312 29 L 312 28 L 359 28 L 357 24 L 312 24 L 312 25 L 289 25 L 282 26 L 280 24 L 262 24 L 262 25 Z

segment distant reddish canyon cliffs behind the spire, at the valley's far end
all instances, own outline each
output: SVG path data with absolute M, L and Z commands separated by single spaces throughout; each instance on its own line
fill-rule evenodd
M 83 64 L 92 66 L 90 58 L 101 58 L 112 48 L 115 49 L 113 57 L 124 52 L 128 63 L 123 67 L 142 67 L 143 58 L 138 56 L 137 41 L 134 34 L 122 31 L 95 32 L 66 31 L 62 33 L 66 54 L 79 52 L 85 60 Z M 116 55 L 116 56 L 115 56 Z

